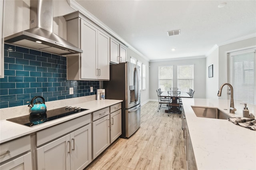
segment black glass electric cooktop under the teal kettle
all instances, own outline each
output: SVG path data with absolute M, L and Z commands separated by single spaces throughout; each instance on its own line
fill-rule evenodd
M 79 113 L 81 111 L 86 111 L 88 109 L 80 109 L 75 107 L 61 107 L 58 109 L 52 109 L 46 111 L 46 113 L 38 115 L 26 115 L 21 117 L 15 117 L 12 119 L 6 119 L 14 123 L 25 125 L 28 127 L 34 127 L 35 125 L 40 125 L 45 122 L 49 122 L 55 119 L 59 119 L 68 115 Z

